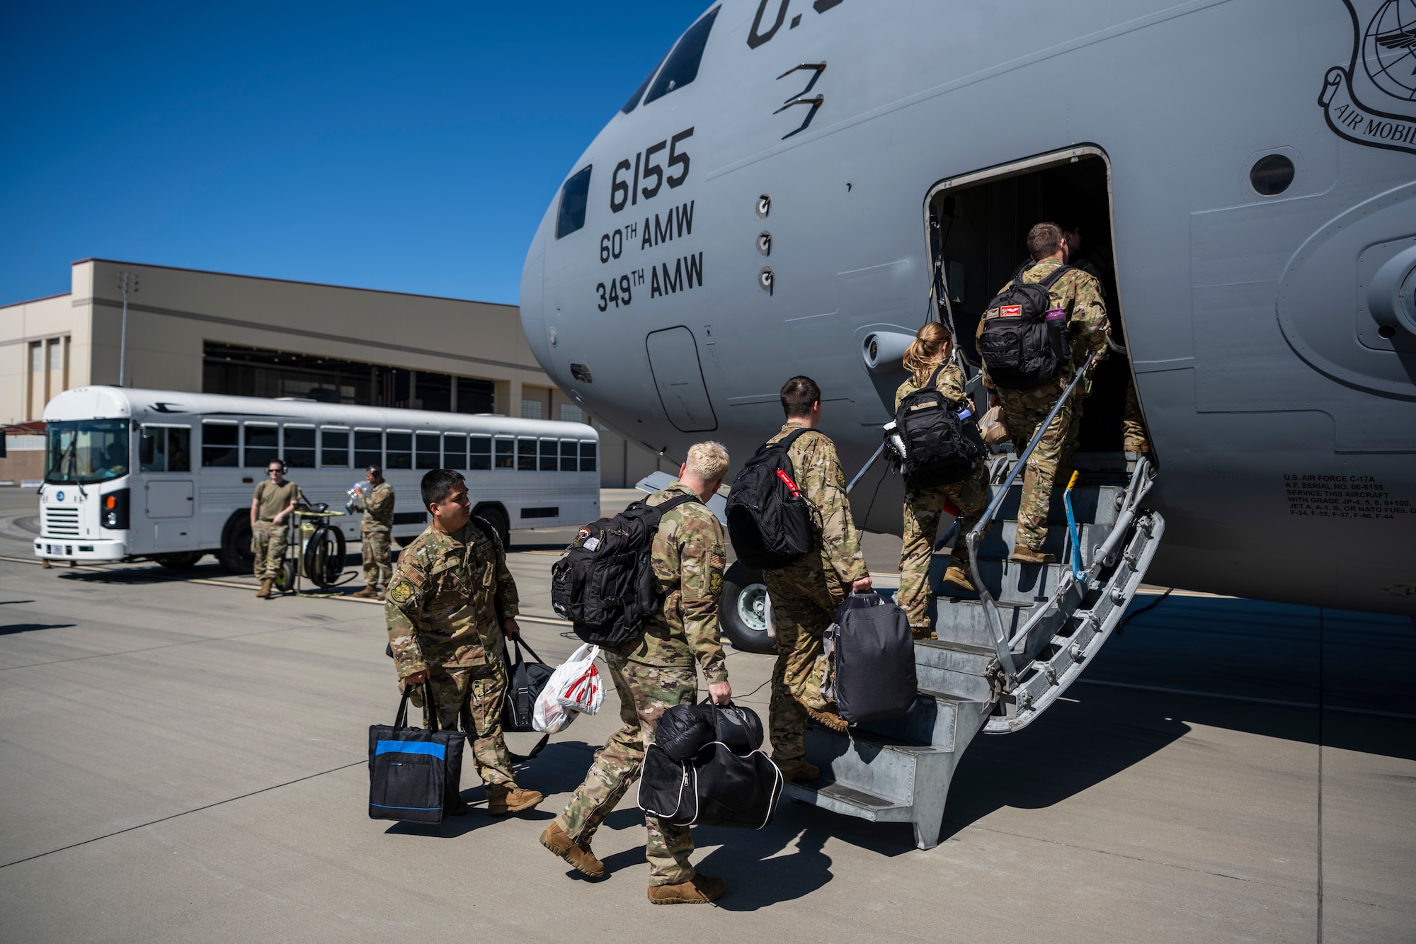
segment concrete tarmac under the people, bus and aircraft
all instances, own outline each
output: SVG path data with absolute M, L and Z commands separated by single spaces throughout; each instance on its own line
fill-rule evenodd
M 261 601 L 210 558 L 45 571 L 25 500 L 0 493 L 4 941 L 1416 938 L 1405 618 L 1175 594 L 1029 729 L 974 741 L 936 849 L 783 802 L 697 829 L 728 894 L 666 911 L 633 790 L 595 839 L 609 877 L 537 842 L 613 690 L 518 772 L 541 808 L 489 816 L 467 770 L 467 816 L 371 821 L 368 726 L 398 700 L 381 605 Z M 547 595 L 562 543 L 517 532 L 510 558 L 548 662 L 576 645 Z M 770 658 L 728 666 L 765 717 Z

